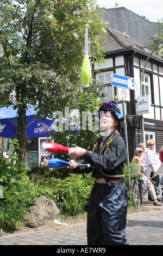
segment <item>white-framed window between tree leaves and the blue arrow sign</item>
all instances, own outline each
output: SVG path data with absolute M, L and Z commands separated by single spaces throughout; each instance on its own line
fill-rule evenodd
M 113 73 L 113 71 L 106 71 L 106 72 L 101 72 L 100 74 L 96 75 L 96 80 L 103 82 L 103 84 L 104 84 L 103 92 L 107 94 L 106 97 L 98 99 L 100 102 L 112 100 L 112 98 L 114 97 L 114 86 L 111 85 L 111 74 L 112 73 Z M 109 75 L 109 80 L 107 77 L 108 75 Z M 101 80 L 100 77 L 102 77 L 102 76 L 103 76 L 103 79 Z M 108 89 L 111 90 L 111 96 L 108 94 Z

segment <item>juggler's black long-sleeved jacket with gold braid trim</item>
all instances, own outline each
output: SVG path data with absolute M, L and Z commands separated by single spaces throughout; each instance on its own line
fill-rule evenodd
M 99 145 L 103 141 L 103 147 L 99 151 Z M 111 132 L 109 136 L 98 138 L 92 143 L 90 150 L 86 150 L 83 156 L 90 168 L 78 167 L 76 173 L 90 173 L 96 179 L 105 178 L 116 181 L 124 181 L 123 163 L 127 157 L 127 148 L 124 139 Z

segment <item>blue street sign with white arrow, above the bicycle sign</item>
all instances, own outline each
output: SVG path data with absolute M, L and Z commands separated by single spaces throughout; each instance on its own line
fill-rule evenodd
M 111 84 L 112 86 L 119 86 L 119 87 L 131 89 L 131 90 L 135 89 L 133 77 L 111 74 Z

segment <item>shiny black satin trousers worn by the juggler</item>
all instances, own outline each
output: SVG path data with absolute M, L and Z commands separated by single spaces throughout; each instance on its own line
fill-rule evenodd
M 128 245 L 125 238 L 127 190 L 124 183 L 92 188 L 87 215 L 88 245 Z

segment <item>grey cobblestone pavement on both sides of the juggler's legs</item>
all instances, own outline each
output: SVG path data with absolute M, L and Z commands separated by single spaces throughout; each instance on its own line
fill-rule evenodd
M 127 216 L 129 245 L 163 245 L 163 206 L 147 207 L 152 209 Z M 0 236 L 0 245 L 87 245 L 86 222 Z

